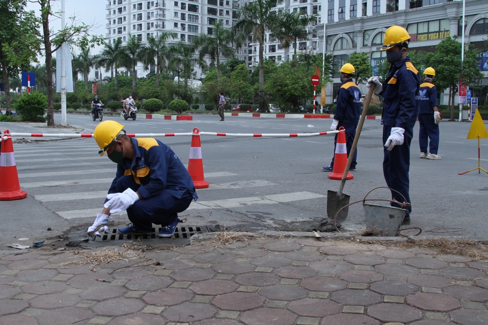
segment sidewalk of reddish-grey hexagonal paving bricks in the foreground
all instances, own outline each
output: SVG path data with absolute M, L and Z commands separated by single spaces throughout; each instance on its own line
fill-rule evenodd
M 488 323 L 488 263 L 424 250 L 306 239 L 204 242 L 146 251 L 95 272 L 60 267 L 80 259 L 72 251 L 0 256 L 0 325 Z M 148 258 L 161 265 L 122 268 Z

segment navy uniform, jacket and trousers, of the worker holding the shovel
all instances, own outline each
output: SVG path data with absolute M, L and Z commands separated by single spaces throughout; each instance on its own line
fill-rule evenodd
M 383 114 L 383 144 L 391 134 L 392 127 L 405 129 L 402 145 L 394 146 L 391 151 L 383 147 L 383 175 L 386 185 L 401 194 L 391 191 L 391 197 L 399 202 L 410 202 L 409 169 L 410 143 L 413 137 L 413 126 L 417 120 L 419 108 L 420 76 L 417 69 L 410 62 L 410 57 L 391 64 L 388 76 L 383 83 L 381 95 L 384 98 Z M 405 199 L 404 199 L 405 198 Z M 398 206 L 398 205 L 396 205 Z M 409 208 L 407 215 L 412 208 Z

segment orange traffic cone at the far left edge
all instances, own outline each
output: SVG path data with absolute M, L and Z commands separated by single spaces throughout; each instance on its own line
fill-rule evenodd
M 15 165 L 14 146 L 9 130 L 4 131 L 0 152 L 0 201 L 23 199 L 27 193 L 20 189 L 17 166 Z

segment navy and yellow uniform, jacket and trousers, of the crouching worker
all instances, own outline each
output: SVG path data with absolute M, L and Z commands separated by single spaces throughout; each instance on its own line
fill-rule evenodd
M 137 229 L 145 231 L 150 230 L 153 223 L 165 227 L 173 223 L 192 200 L 198 199 L 195 185 L 170 147 L 152 138 L 131 138 L 131 141 L 134 158 L 124 158 L 117 164 L 108 193 L 120 193 L 129 187 L 137 191 L 142 199 L 127 209 L 129 220 Z

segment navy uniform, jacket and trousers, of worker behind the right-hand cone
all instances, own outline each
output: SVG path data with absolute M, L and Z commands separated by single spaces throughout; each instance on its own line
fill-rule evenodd
M 351 152 L 352 143 L 354 142 L 354 137 L 356 136 L 356 127 L 359 122 L 359 112 L 361 111 L 361 91 L 357 85 L 351 81 L 351 79 L 345 80 L 339 92 L 337 94 L 337 105 L 335 106 L 334 120 L 338 120 L 339 124 L 337 129 L 344 126 L 346 129 L 344 132 L 346 134 L 346 149 L 347 156 Z M 335 146 L 337 145 L 337 137 L 334 138 L 334 153 Z M 351 169 L 355 169 L 357 165 L 356 161 L 357 149 L 354 152 L 354 158 L 351 162 Z M 330 167 L 334 166 L 334 155 L 332 155 L 332 161 L 330 162 Z

